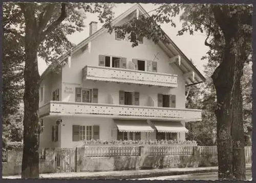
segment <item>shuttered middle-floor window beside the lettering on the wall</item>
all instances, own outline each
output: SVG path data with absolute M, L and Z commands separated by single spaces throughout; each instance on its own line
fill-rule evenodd
M 98 89 L 85 89 L 76 87 L 75 102 L 98 103 Z

